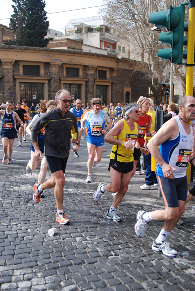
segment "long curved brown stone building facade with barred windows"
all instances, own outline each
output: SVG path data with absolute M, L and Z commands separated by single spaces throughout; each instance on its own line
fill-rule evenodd
M 115 105 L 148 96 L 147 78 L 136 72 L 137 62 L 73 46 L 71 40 L 66 50 L 0 45 L 0 103 L 25 98 L 31 106 L 53 99 L 59 89 L 84 104 L 93 97 Z

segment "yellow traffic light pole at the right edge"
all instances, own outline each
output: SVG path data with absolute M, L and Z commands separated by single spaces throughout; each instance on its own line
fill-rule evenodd
M 191 4 L 190 4 L 191 5 Z M 195 0 L 192 1 L 195 6 Z M 193 94 L 193 63 L 195 51 L 195 7 L 189 6 L 188 22 L 188 48 L 187 48 L 187 67 L 186 67 L 186 96 Z M 189 64 L 189 65 L 188 65 Z M 190 183 L 191 166 L 187 168 L 187 180 Z

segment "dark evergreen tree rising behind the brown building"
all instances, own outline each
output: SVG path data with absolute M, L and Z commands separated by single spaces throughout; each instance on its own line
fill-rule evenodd
M 46 47 L 52 38 L 45 38 L 49 28 L 44 0 L 12 0 L 13 14 L 10 22 L 15 33 L 15 41 L 5 41 L 8 45 Z

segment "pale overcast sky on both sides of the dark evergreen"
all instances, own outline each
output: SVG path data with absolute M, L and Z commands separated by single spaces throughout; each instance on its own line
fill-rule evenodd
M 45 0 L 47 13 L 74 10 L 79 8 L 99 6 L 103 4 L 103 0 Z M 13 13 L 12 0 L 0 0 L 0 23 L 9 26 L 9 18 Z M 68 11 L 62 13 L 48 14 L 49 28 L 59 30 L 65 33 L 65 26 L 74 18 L 83 18 L 90 16 L 99 16 L 98 11 L 101 7 Z M 8 18 L 2 20 L 4 18 Z

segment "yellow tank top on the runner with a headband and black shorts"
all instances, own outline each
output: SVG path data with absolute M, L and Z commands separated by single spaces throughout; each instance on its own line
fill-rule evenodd
M 122 133 L 119 136 L 114 136 L 116 139 L 119 139 L 121 141 L 132 141 L 134 140 L 135 143 L 137 141 L 138 136 L 138 127 L 137 123 L 134 123 L 135 129 L 133 131 L 130 130 L 127 122 L 125 119 L 122 119 L 124 122 L 124 129 Z M 125 146 L 121 145 L 113 145 L 111 149 L 110 159 L 117 160 L 119 162 L 132 162 L 133 161 L 133 152 L 134 149 L 126 149 Z

